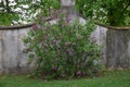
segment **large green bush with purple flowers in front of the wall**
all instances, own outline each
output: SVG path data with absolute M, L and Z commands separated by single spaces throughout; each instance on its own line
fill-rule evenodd
M 47 17 L 34 25 L 24 38 L 30 61 L 37 60 L 35 76 L 43 79 L 94 76 L 101 67 L 101 52 L 89 40 L 93 24 L 70 23 L 69 14 L 51 12 L 56 23 Z

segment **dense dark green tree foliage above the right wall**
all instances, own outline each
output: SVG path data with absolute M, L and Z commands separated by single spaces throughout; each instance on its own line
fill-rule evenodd
M 130 0 L 76 0 L 79 13 L 112 26 L 130 25 Z

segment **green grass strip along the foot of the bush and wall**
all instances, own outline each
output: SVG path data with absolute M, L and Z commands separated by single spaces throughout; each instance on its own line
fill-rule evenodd
M 130 87 L 130 71 L 112 71 L 98 78 L 50 80 L 28 78 L 25 75 L 6 76 L 0 87 Z

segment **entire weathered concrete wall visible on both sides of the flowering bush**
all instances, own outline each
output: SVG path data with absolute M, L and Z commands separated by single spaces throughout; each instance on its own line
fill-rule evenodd
M 0 73 L 23 74 L 34 70 L 35 64 L 28 64 L 28 58 L 23 52 L 22 38 L 26 35 L 27 28 L 0 30 Z M 130 30 L 98 26 L 91 39 L 101 46 L 103 63 L 108 69 L 130 69 Z

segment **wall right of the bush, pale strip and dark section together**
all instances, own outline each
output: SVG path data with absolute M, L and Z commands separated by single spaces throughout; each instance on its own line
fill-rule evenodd
M 101 46 L 103 63 L 108 70 L 130 69 L 130 29 L 98 26 L 91 39 Z

